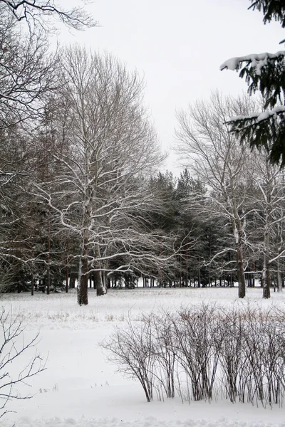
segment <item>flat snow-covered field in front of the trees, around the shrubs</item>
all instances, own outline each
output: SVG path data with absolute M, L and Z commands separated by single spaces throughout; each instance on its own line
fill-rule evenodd
M 261 299 L 261 289 L 247 290 L 247 301 L 285 310 L 285 292 Z M 226 400 L 180 399 L 147 403 L 138 382 L 116 373 L 99 343 L 128 317 L 217 301 L 239 304 L 237 288 L 110 290 L 104 297 L 89 293 L 89 305 L 78 307 L 74 293 L 31 297 L 1 295 L 0 306 L 19 314 L 25 339 L 40 331 L 38 352 L 47 358 L 46 371 L 30 381 L 32 399 L 9 401 L 2 427 L 285 427 L 285 408 L 231 404 Z M 30 357 L 28 354 L 26 357 Z M 27 359 L 28 360 L 28 359 Z M 17 362 L 14 362 L 17 363 Z

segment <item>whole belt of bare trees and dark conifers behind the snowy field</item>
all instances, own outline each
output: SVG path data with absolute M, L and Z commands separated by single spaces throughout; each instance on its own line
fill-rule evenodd
M 284 170 L 230 132 L 261 100 L 216 92 L 179 110 L 174 176 L 140 75 L 79 45 L 51 52 L 41 14 L 55 11 L 26 7 L 19 16 L 0 2 L 1 292 L 77 286 L 86 305 L 89 287 L 104 295 L 138 278 L 280 291 Z M 76 13 L 59 16 L 95 25 Z

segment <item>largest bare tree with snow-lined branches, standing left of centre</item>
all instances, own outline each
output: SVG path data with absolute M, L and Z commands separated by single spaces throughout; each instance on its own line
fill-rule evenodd
M 147 207 L 155 200 L 143 177 L 162 157 L 136 73 L 108 54 L 78 46 L 66 50 L 61 66 L 65 105 L 58 117 L 64 123 L 57 129 L 66 151 L 53 149 L 53 159 L 62 165 L 61 174 L 46 184 L 54 191 L 38 189 L 80 242 L 78 302 L 87 304 L 88 274 L 95 275 L 103 295 L 101 271 L 113 270 L 108 260 L 126 253 L 134 260 L 150 258 L 138 251 L 155 246 L 155 233 L 146 232 Z M 156 238 L 163 246 L 161 233 Z M 120 270 L 130 268 L 130 258 Z

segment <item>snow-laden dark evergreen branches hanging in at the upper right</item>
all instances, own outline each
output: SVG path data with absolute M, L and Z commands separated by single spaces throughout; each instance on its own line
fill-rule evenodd
M 249 9 L 264 14 L 264 23 L 272 19 L 285 28 L 285 4 L 280 0 L 251 0 Z M 285 39 L 280 43 L 285 43 Z M 248 93 L 259 91 L 264 110 L 250 116 L 232 117 L 232 132 L 250 147 L 265 147 L 272 163 L 285 166 L 285 51 L 231 58 L 221 70 L 239 71 L 249 85 Z

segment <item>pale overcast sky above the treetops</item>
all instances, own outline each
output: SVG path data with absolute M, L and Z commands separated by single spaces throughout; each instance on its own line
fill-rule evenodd
M 86 9 L 100 27 L 73 35 L 63 30 L 59 39 L 113 53 L 130 70 L 144 75 L 145 104 L 162 147 L 170 149 L 175 110 L 207 99 L 216 89 L 224 95 L 247 90 L 236 72 L 219 71 L 224 60 L 284 48 L 279 45 L 284 39 L 280 24 L 264 26 L 259 11 L 247 10 L 250 4 L 249 0 L 95 0 Z M 177 173 L 173 154 L 166 167 Z

